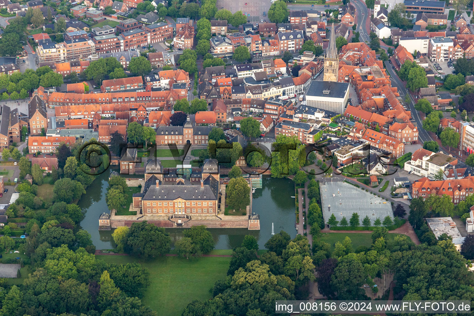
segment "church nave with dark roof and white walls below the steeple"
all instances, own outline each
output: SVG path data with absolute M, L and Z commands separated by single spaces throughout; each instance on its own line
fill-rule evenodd
M 307 105 L 336 113 L 344 113 L 349 99 L 349 83 L 312 81 L 306 93 Z

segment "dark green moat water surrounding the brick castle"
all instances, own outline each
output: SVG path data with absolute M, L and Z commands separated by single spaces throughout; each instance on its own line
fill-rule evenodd
M 87 194 L 82 195 L 78 202 L 86 212 L 81 226 L 91 234 L 96 249 L 114 248 L 111 237 L 113 230 L 98 230 L 100 214 L 109 212 L 105 202 L 108 181 L 109 172 L 97 176 L 87 188 Z M 245 235 L 254 235 L 260 249 L 264 249 L 264 244 L 272 236 L 272 223 L 276 233 L 283 230 L 294 238 L 296 215 L 295 201 L 291 198 L 293 195 L 293 181 L 264 176 L 262 189 L 255 190 L 252 200 L 252 211 L 260 215 L 260 231 L 249 231 L 245 228 L 210 228 L 216 243 L 215 249 L 233 249 L 242 243 Z M 173 243 L 182 237 L 180 228 L 167 228 L 166 231 L 170 233 Z

